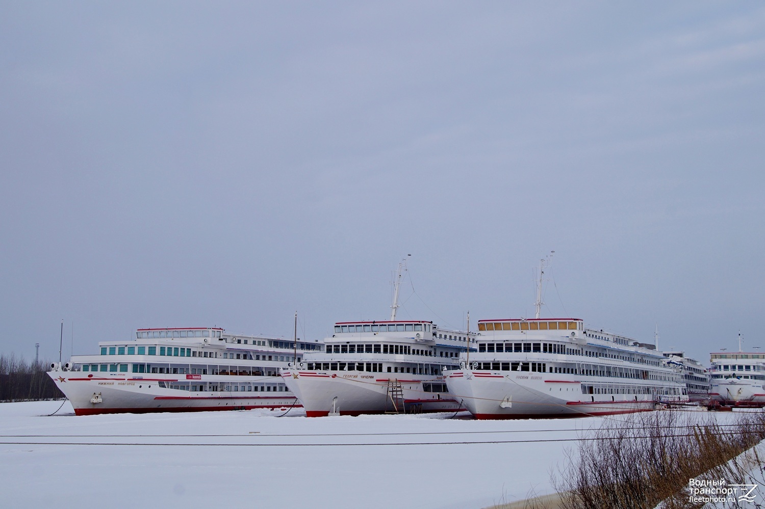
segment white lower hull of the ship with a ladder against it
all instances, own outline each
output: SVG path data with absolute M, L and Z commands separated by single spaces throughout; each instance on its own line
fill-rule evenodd
M 399 378 L 402 398 L 396 398 L 395 405 L 389 397 L 387 373 L 283 370 L 282 378 L 288 389 L 298 397 L 308 417 L 324 417 L 330 413 L 355 416 L 363 413 L 464 410 L 448 394 L 423 391 L 422 382 L 443 381 L 440 376 Z

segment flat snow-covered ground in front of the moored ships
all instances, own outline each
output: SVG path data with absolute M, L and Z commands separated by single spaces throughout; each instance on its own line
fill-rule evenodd
M 552 491 L 550 470 L 577 442 L 547 440 L 601 424 L 300 410 L 76 417 L 68 402 L 47 417 L 60 404 L 0 404 L 2 507 L 487 507 Z

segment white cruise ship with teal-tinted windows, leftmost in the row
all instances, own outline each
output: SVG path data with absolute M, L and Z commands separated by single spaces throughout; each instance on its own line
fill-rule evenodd
M 320 342 L 295 345 L 217 327 L 138 329 L 135 336 L 51 365 L 50 378 L 77 415 L 299 406 L 279 368 L 323 349 Z

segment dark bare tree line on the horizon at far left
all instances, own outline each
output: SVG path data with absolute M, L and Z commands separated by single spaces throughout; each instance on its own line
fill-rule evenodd
M 47 375 L 50 361 L 26 361 L 14 353 L 0 355 L 0 401 L 38 401 L 63 398 Z

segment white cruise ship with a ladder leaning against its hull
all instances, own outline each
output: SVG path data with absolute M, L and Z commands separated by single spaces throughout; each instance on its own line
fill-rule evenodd
M 326 352 L 307 352 L 282 378 L 308 417 L 463 410 L 443 372 L 471 339 L 427 321 L 339 322 Z

